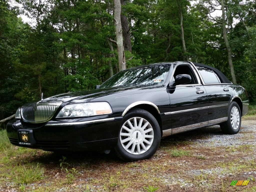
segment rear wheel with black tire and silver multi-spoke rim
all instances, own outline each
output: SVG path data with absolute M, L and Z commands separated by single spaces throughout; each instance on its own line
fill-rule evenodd
M 220 124 L 221 130 L 229 135 L 237 134 L 241 126 L 241 117 L 239 105 L 232 101 L 228 108 L 228 120 Z

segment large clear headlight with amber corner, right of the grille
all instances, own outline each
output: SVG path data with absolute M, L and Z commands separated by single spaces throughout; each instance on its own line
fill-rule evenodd
M 107 102 L 78 103 L 64 106 L 56 118 L 84 117 L 110 113 L 112 113 L 112 109 Z

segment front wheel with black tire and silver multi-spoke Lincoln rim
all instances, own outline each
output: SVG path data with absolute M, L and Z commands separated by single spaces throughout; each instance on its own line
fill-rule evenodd
M 155 154 L 160 140 L 161 131 L 155 117 L 146 110 L 133 109 L 121 121 L 115 152 L 127 162 L 147 159 Z

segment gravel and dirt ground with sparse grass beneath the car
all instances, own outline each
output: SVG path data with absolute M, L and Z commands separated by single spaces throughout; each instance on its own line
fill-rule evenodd
M 17 149 L 18 150 L 18 149 Z M 35 150 L 12 157 L 21 166 L 39 164 L 50 187 L 26 187 L 23 191 L 254 191 L 256 192 L 256 118 L 242 119 L 236 135 L 225 135 L 218 125 L 163 138 L 151 159 L 122 162 L 114 153 L 63 154 Z M 63 167 L 62 167 L 63 168 Z M 15 178 L 10 174 L 2 181 Z M 249 180 L 247 186 L 230 186 L 232 180 Z M 20 191 L 0 184 L 0 191 Z

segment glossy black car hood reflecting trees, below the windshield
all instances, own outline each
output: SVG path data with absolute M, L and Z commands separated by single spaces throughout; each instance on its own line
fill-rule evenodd
M 59 95 L 55 95 L 53 97 L 49 97 L 44 99 L 41 102 L 71 102 L 73 100 L 91 100 L 95 99 L 98 97 L 106 96 L 106 95 L 111 95 L 115 93 L 120 93 L 120 92 L 126 92 L 129 90 L 141 90 L 142 92 L 147 92 L 150 91 L 152 88 L 156 87 L 164 87 L 164 85 L 157 85 L 157 86 L 133 86 L 133 87 L 112 87 L 112 88 L 106 88 L 106 89 L 93 89 L 93 90 L 86 90 L 86 91 L 77 91 L 77 92 L 70 92 L 70 93 L 63 93 Z M 139 91 L 139 92 L 141 92 Z M 133 92 L 133 91 L 132 91 Z M 133 94 L 133 93 L 129 94 Z M 137 92 L 137 91 L 136 91 Z M 127 93 L 128 94 L 128 93 Z

